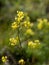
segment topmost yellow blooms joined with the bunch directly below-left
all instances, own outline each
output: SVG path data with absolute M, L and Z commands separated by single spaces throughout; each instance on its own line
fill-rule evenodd
M 17 11 L 17 17 L 15 17 L 15 22 L 12 23 L 12 29 L 17 29 L 19 27 L 20 21 L 24 18 L 24 13 L 22 11 Z

